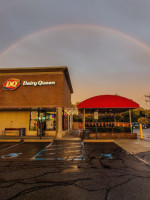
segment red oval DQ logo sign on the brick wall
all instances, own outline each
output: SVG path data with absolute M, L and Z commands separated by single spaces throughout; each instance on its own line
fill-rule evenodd
M 3 84 L 3 88 L 5 90 L 15 90 L 21 85 L 21 81 L 19 79 L 10 78 Z

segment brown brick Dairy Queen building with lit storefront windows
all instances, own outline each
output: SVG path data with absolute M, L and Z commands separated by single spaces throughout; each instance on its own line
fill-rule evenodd
M 67 67 L 0 69 L 0 134 L 61 138 L 72 93 Z

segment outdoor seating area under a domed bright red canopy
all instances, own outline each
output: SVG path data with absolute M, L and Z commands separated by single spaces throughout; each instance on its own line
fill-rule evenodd
M 86 99 L 85 101 L 79 103 L 77 107 L 80 114 L 83 116 L 82 127 L 83 130 L 86 131 L 81 133 L 81 138 L 137 138 L 137 134 L 133 133 L 132 130 L 131 116 L 131 110 L 139 108 L 139 104 L 136 102 L 119 95 L 99 95 Z M 129 112 L 129 121 L 117 122 L 116 113 L 123 113 L 127 111 Z M 93 117 L 86 121 L 86 114 L 89 113 L 92 113 Z M 102 122 L 102 113 L 112 113 L 114 116 L 114 122 Z

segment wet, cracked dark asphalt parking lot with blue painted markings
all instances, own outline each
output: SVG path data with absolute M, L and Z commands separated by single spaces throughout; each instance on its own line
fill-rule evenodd
M 149 200 L 149 188 L 149 165 L 114 143 L 0 143 L 1 200 Z

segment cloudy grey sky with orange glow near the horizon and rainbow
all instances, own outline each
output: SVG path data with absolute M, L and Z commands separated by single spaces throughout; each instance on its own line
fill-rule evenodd
M 150 109 L 149 0 L 0 0 L 0 67 L 68 66 L 72 102 L 118 94 Z

